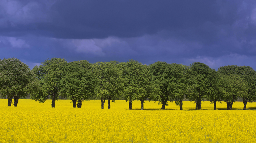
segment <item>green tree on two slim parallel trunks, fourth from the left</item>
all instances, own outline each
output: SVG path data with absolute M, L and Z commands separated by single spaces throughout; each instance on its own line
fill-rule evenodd
M 97 62 L 92 65 L 91 70 L 99 79 L 96 97 L 101 99 L 101 109 L 104 109 L 106 99 L 108 100 L 108 109 L 110 109 L 111 100 L 114 102 L 122 94 L 124 80 L 117 68 L 118 63 L 118 61 L 109 61 Z

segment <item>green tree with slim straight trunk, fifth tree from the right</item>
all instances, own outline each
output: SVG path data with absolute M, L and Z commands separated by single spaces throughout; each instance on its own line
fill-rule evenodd
M 189 66 L 182 64 L 170 64 L 170 83 L 168 91 L 175 104 L 183 110 L 183 99 L 193 94 L 193 71 Z

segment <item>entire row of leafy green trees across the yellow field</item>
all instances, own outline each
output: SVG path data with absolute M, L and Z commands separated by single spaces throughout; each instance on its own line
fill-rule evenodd
M 52 107 L 59 97 L 72 100 L 73 107 L 82 106 L 82 101 L 91 98 L 101 100 L 101 108 L 108 101 L 124 98 L 132 102 L 140 100 L 141 110 L 145 100 L 153 100 L 168 106 L 175 101 L 183 110 L 183 100 L 196 103 L 209 100 L 216 110 L 216 102 L 226 102 L 227 110 L 238 98 L 243 99 L 244 110 L 247 102 L 256 100 L 256 72 L 249 66 L 222 66 L 216 72 L 203 63 L 189 66 L 156 62 L 143 65 L 135 60 L 128 62 L 97 62 L 86 60 L 67 63 L 65 59 L 52 58 L 30 70 L 15 58 L 0 60 L 0 93 L 8 97 L 8 106 L 14 98 L 17 106 L 20 97 L 30 94 L 32 100 L 52 100 Z

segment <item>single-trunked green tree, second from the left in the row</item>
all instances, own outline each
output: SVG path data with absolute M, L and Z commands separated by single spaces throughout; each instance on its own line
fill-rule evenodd
M 55 100 L 59 98 L 60 80 L 64 77 L 64 66 L 67 64 L 65 59 L 52 58 L 46 60 L 39 66 L 33 68 L 42 86 L 42 94 L 32 97 L 39 102 L 45 102 L 46 99 L 52 100 L 52 107 L 55 107 Z

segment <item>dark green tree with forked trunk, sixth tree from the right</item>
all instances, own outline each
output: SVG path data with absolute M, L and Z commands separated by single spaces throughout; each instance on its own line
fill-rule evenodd
M 161 109 L 165 109 L 165 106 L 168 106 L 168 100 L 172 100 L 169 91 L 172 78 L 170 75 L 170 64 L 158 61 L 150 64 L 149 68 L 152 74 L 152 84 L 154 89 L 156 89 L 153 100 L 158 101 L 158 104 L 162 105 Z

